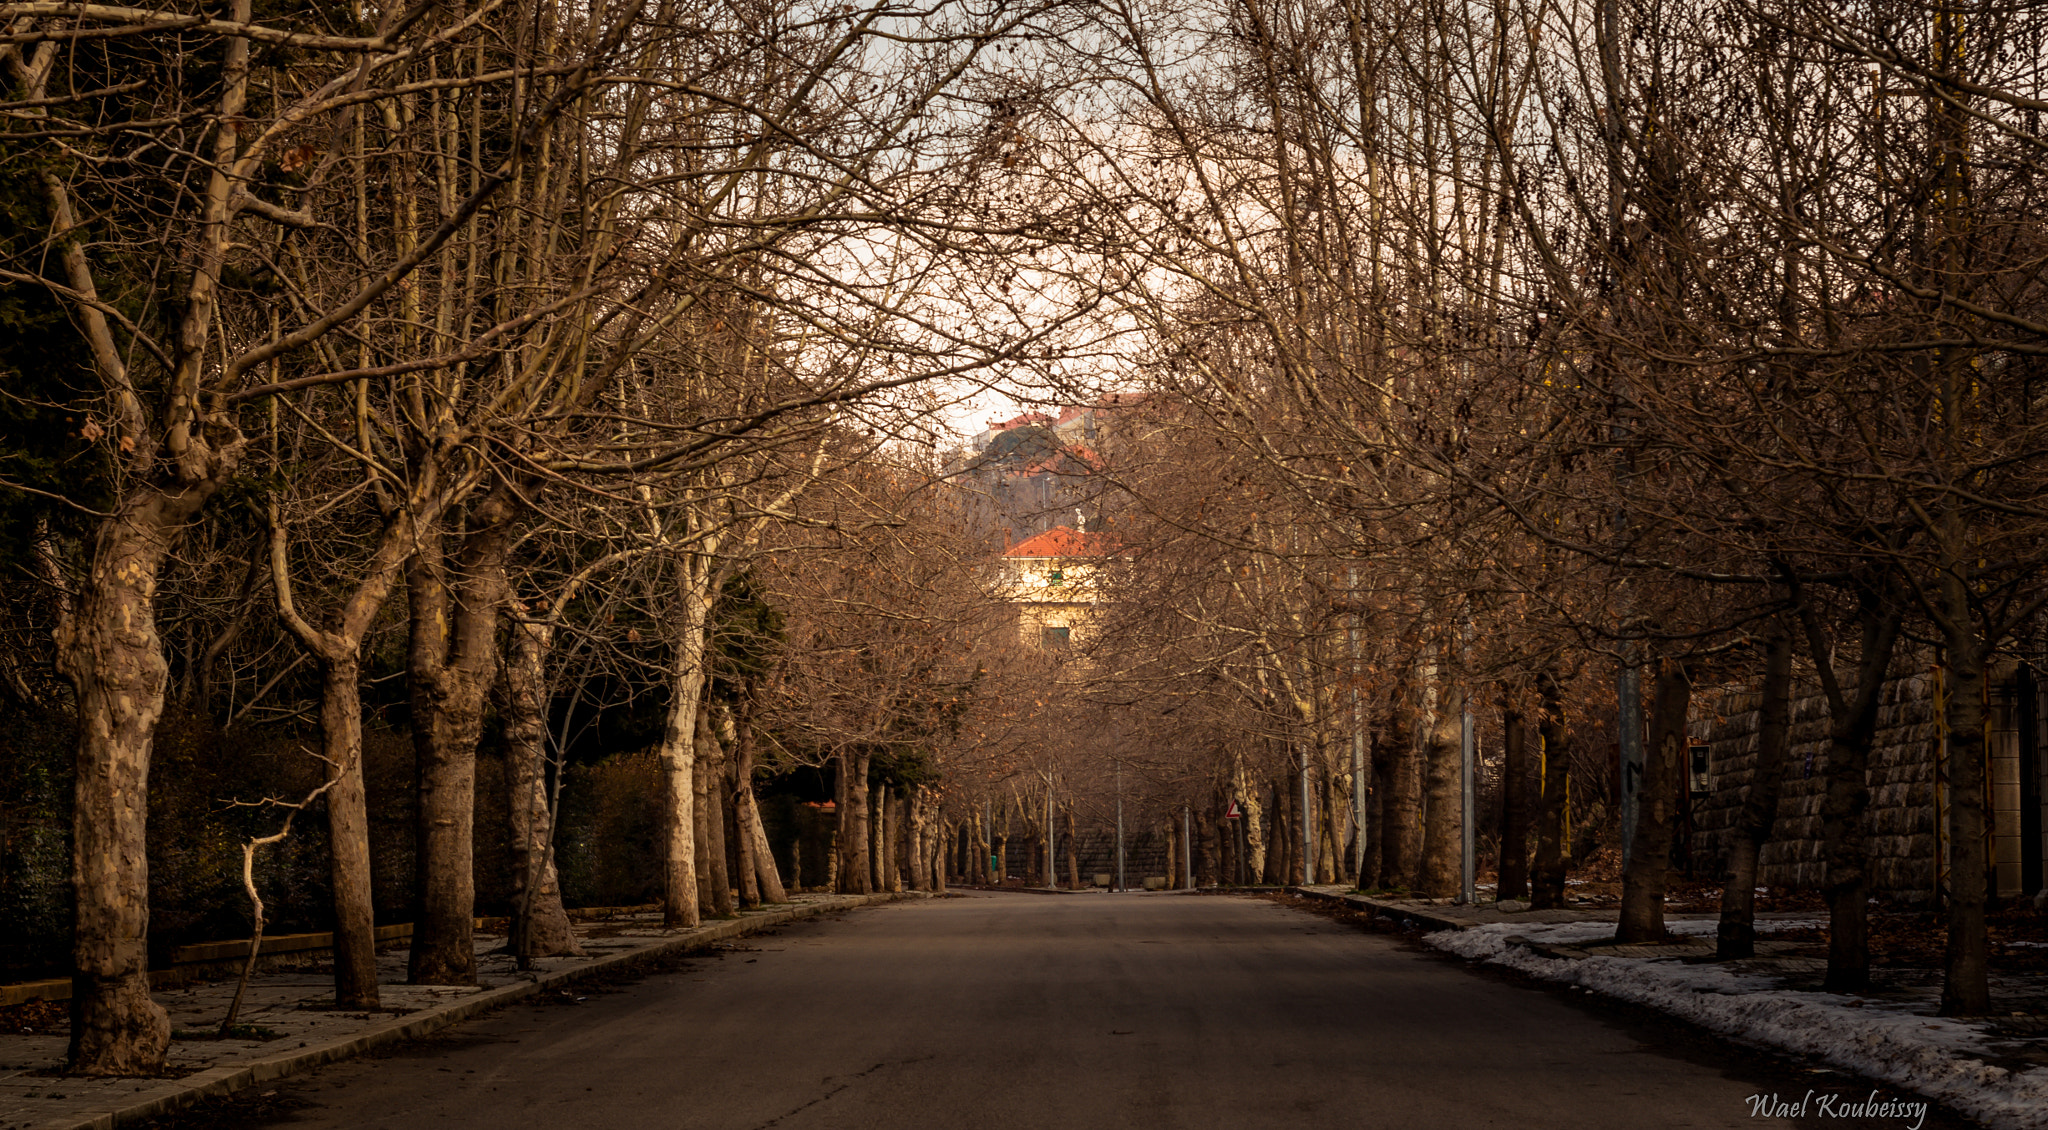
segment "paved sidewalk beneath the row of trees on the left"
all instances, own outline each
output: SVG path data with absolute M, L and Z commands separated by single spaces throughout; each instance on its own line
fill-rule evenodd
M 236 981 L 188 985 L 156 999 L 170 1009 L 170 1075 L 162 1079 L 80 1079 L 61 1075 L 68 1036 L 0 1032 L 0 1128 L 113 1130 L 207 1095 L 240 1091 L 369 1048 L 412 1040 L 459 1019 L 532 997 L 621 964 L 711 950 L 719 942 L 788 921 L 924 895 L 797 895 L 788 903 L 743 911 L 696 929 L 662 929 L 657 913 L 578 921 L 582 958 L 541 958 L 520 972 L 500 954 L 504 936 L 477 936 L 477 985 L 406 985 L 406 948 L 377 956 L 383 1011 L 346 1013 L 324 1005 L 334 976 L 319 968 L 258 972 L 242 1001 L 238 1028 L 260 1036 L 217 1040 Z M 61 1007 L 61 1005 L 59 1005 Z

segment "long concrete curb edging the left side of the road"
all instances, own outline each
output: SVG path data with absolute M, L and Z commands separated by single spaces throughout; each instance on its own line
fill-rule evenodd
M 621 954 L 606 954 L 588 964 L 578 964 L 569 968 L 559 968 L 553 972 L 543 972 L 532 981 L 522 981 L 518 985 L 500 985 L 498 989 L 485 989 L 461 1001 L 451 1001 L 446 1005 L 434 1005 L 430 1009 L 420 1009 L 416 1013 L 389 1017 L 385 1022 L 371 1024 L 354 1036 L 344 1036 L 338 1040 L 328 1040 L 326 1044 L 315 1044 L 309 1048 L 297 1048 L 285 1054 L 266 1056 L 252 1062 L 238 1062 L 229 1067 L 215 1067 L 186 1075 L 184 1079 L 168 1081 L 156 1093 L 143 1093 L 147 1097 L 137 1097 L 117 1110 L 90 1114 L 84 1118 L 59 1118 L 55 1122 L 45 1122 L 41 1130 L 117 1130 L 119 1126 L 139 1122 L 143 1118 L 154 1118 L 160 1114 L 170 1114 L 193 1105 L 199 1099 L 209 1099 L 215 1095 L 227 1095 L 244 1087 L 254 1087 L 256 1083 L 268 1083 L 272 1079 L 283 1079 L 287 1075 L 297 1075 L 311 1067 L 342 1060 L 348 1056 L 358 1056 L 371 1048 L 381 1048 L 385 1044 L 395 1044 L 399 1040 L 418 1040 L 430 1032 L 449 1028 L 469 1019 L 471 1015 L 496 1009 L 500 1005 L 510 1005 L 522 997 L 532 997 L 543 989 L 553 989 L 557 985 L 569 985 L 582 981 L 594 972 L 604 972 L 618 966 L 629 966 L 633 962 L 643 962 L 649 958 L 664 958 L 670 954 L 686 954 L 690 950 L 709 948 L 715 942 L 725 942 L 727 938 L 743 938 L 772 925 L 784 925 L 791 921 L 801 921 L 807 917 L 850 911 L 858 907 L 872 907 L 877 903 L 893 903 L 897 899 L 922 899 L 920 890 L 889 893 L 889 895 L 838 895 L 829 903 L 809 903 L 799 907 L 782 907 L 774 911 L 756 911 L 737 919 L 715 921 L 700 925 L 680 938 L 664 938 L 659 942 L 641 946 L 637 950 L 627 950 Z

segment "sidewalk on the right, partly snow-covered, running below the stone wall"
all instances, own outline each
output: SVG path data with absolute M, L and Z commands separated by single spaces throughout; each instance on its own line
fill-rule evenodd
M 1935 1015 L 1942 970 L 1880 968 L 1870 993 L 1821 993 L 1815 942 L 1757 942 L 1757 956 L 1714 960 L 1716 915 L 1665 915 L 1673 938 L 1616 946 L 1614 909 L 1518 911 L 1419 899 L 1368 899 L 1346 886 L 1294 886 L 1372 917 L 1413 923 L 1423 942 L 1647 1005 L 1706 1030 L 1821 1058 L 1866 1079 L 1939 1099 L 1993 1128 L 2048 1130 L 2048 974 L 1993 974 L 1999 1017 Z M 1513 907 L 1513 903 L 1509 903 Z M 1817 915 L 1757 915 L 1759 931 L 1825 925 Z

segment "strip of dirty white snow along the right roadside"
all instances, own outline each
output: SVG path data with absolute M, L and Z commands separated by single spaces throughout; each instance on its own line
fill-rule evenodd
M 1712 919 L 1669 923 L 1675 933 L 1712 933 Z M 1776 925 L 1776 923 L 1774 923 Z M 2048 1130 L 2048 1069 L 2013 1073 L 1982 1060 L 1978 1026 L 1907 1011 L 1911 1005 L 1835 993 L 1776 989 L 1776 979 L 1712 964 L 1616 956 L 1546 958 L 1507 938 L 1561 946 L 1612 938 L 1612 923 L 1489 923 L 1423 940 L 1462 958 L 1501 964 L 1542 981 L 1579 985 L 1649 1005 L 1724 1036 L 1786 1052 L 1939 1099 L 1987 1126 Z

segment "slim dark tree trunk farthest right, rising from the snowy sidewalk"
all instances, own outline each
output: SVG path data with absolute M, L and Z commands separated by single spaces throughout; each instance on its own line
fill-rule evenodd
M 1948 952 L 1942 1015 L 1991 1011 L 1991 954 L 1985 936 L 1985 895 L 1991 860 L 1985 852 L 1985 645 L 1974 631 L 1968 592 L 1944 577 L 1948 608 Z

